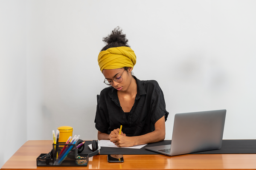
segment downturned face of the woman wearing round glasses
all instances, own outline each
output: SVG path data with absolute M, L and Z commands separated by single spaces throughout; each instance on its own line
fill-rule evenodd
M 118 91 L 126 91 L 128 87 L 131 84 L 131 71 L 132 68 L 128 68 L 128 70 L 125 70 L 124 68 L 116 68 L 111 70 L 103 70 L 102 74 L 104 77 L 108 80 L 113 88 L 115 88 Z M 120 77 L 122 79 L 122 82 L 116 82 L 114 79 L 117 79 L 117 77 Z M 119 78 L 120 79 L 120 78 Z

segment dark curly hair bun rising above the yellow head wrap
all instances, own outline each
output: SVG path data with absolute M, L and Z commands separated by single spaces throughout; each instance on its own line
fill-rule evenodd
M 113 47 L 130 47 L 128 45 L 128 40 L 126 39 L 126 35 L 122 33 L 122 29 L 119 26 L 114 28 L 112 33 L 107 37 L 104 37 L 102 41 L 107 44 L 104 48 L 102 48 L 102 51 Z

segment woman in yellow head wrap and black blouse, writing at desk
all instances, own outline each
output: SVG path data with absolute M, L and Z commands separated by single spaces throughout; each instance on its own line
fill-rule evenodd
M 115 28 L 103 41 L 107 45 L 99 53 L 98 62 L 110 87 L 101 91 L 97 103 L 98 139 L 110 140 L 118 147 L 164 140 L 169 113 L 158 83 L 141 81 L 131 74 L 136 55 L 122 29 Z

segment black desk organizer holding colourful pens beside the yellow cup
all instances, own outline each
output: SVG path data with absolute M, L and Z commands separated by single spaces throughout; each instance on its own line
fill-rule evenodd
M 47 155 L 47 153 L 41 153 L 38 158 L 36 159 L 36 166 L 38 167 L 87 167 L 88 164 L 88 154 L 78 154 L 76 148 L 76 144 L 65 144 L 65 143 L 59 143 L 59 144 L 52 144 L 52 150 L 55 151 L 55 148 L 57 150 L 58 155 L 61 153 L 61 150 L 64 146 L 73 146 L 71 151 L 67 154 L 67 157 L 60 165 L 53 165 L 53 163 L 56 161 L 56 152 L 53 152 L 52 158 L 41 158 L 44 155 Z M 66 148 L 67 148 L 66 147 Z M 63 154 L 63 153 L 61 153 Z

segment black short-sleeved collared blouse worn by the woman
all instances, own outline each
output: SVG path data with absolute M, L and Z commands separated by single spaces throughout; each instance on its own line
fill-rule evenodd
M 111 86 L 101 91 L 94 120 L 97 130 L 110 134 L 122 125 L 122 132 L 126 136 L 140 136 L 154 131 L 154 124 L 161 117 L 165 116 L 167 120 L 169 113 L 157 81 L 134 79 L 137 82 L 137 95 L 127 119 L 120 106 L 117 90 Z

